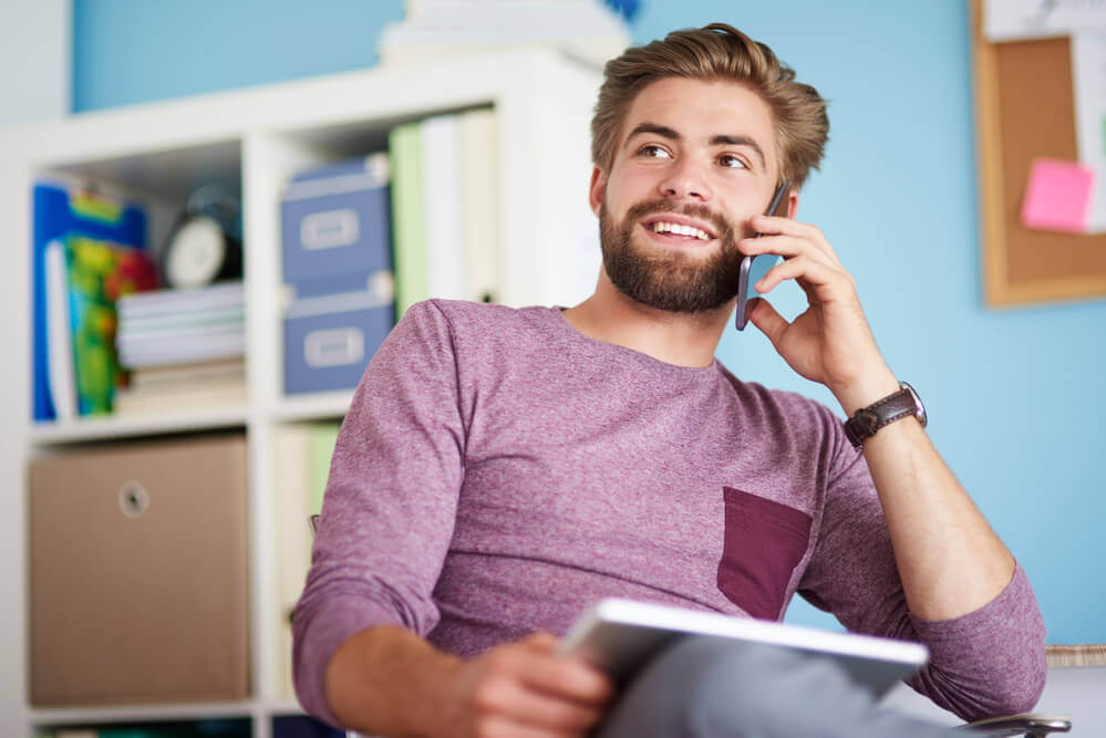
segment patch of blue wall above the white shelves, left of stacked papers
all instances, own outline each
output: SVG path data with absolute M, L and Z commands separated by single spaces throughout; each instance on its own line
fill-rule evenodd
M 401 0 L 73 0 L 73 111 L 376 63 Z

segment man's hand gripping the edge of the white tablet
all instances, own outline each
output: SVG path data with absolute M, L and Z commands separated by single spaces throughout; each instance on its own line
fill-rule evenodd
M 441 704 L 437 732 L 466 738 L 586 735 L 599 725 L 614 687 L 597 668 L 558 654 L 557 643 L 548 633 L 536 633 L 463 662 Z

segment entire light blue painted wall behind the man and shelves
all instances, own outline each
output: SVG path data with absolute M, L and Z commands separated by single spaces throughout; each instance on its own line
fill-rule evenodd
M 371 65 L 401 0 L 74 0 L 74 111 Z M 721 20 L 769 42 L 830 101 L 831 138 L 799 219 L 856 277 L 930 434 L 1030 573 L 1053 643 L 1106 641 L 1095 571 L 1106 523 L 1106 303 L 983 306 L 971 67 L 961 0 L 644 0 L 639 42 Z M 581 179 L 581 191 L 586 186 Z M 797 288 L 773 302 L 802 309 Z M 756 331 L 720 357 L 826 402 Z M 805 603 L 792 622 L 830 625 Z

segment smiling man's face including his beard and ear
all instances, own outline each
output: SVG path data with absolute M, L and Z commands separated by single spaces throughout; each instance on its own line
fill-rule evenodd
M 650 84 L 630 106 L 611 171 L 592 174 L 611 282 L 672 312 L 733 300 L 737 241 L 752 235 L 748 219 L 767 207 L 777 173 L 772 114 L 756 94 L 733 82 Z

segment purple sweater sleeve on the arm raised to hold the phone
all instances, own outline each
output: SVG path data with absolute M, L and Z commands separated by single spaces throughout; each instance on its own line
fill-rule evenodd
M 1022 568 L 974 612 L 914 617 L 868 467 L 844 438 L 799 594 L 849 631 L 924 643 L 929 663 L 908 684 L 964 720 L 1029 711 L 1044 689 L 1044 621 Z

